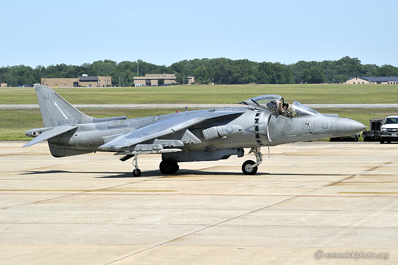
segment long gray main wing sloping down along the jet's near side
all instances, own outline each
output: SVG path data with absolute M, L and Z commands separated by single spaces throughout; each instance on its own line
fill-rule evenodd
M 196 113 L 187 112 L 187 114 L 182 112 L 180 115 L 161 118 L 155 123 L 146 125 L 130 133 L 120 135 L 119 137 L 101 145 L 99 148 L 106 151 L 126 151 L 126 147 L 134 146 L 151 139 L 157 139 L 168 134 L 174 134 L 175 132 L 187 129 L 188 127 L 209 119 L 230 115 L 241 115 L 243 113 L 244 111 L 211 110 Z M 198 141 L 200 142 L 199 139 Z

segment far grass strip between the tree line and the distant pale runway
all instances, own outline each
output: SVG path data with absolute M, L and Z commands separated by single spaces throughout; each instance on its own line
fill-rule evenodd
M 54 88 L 72 104 L 234 104 L 281 95 L 288 102 L 397 103 L 398 85 L 214 85 L 131 88 Z M 0 104 L 37 104 L 34 88 L 0 88 Z

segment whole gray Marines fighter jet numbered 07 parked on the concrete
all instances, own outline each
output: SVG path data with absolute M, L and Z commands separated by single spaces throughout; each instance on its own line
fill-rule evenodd
M 34 85 L 44 128 L 30 129 L 34 137 L 23 147 L 47 140 L 54 157 L 113 152 L 121 161 L 133 158 L 134 176 L 140 176 L 139 154 L 162 154 L 159 169 L 174 174 L 179 162 L 215 161 L 243 157 L 242 172 L 254 175 L 263 161 L 260 148 L 280 144 L 342 137 L 366 128 L 337 114 L 320 114 L 295 101 L 291 111 L 279 95 L 247 99 L 240 108 L 203 109 L 153 117 L 94 118 L 83 114 L 50 88 Z

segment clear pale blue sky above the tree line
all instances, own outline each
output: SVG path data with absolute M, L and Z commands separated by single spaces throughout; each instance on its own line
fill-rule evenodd
M 397 0 L 0 0 L 0 67 L 220 58 L 398 67 Z

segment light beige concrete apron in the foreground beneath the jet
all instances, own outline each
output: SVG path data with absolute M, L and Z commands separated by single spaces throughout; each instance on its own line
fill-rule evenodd
M 0 264 L 398 263 L 398 144 L 271 147 L 255 176 L 252 155 L 174 176 L 139 155 L 141 177 L 23 144 L 0 142 Z

